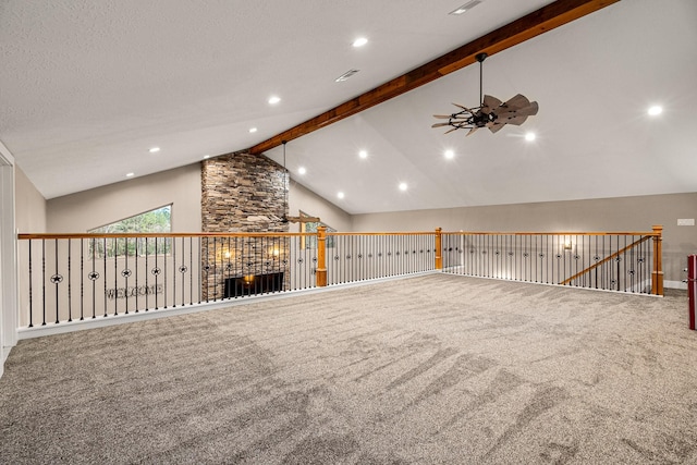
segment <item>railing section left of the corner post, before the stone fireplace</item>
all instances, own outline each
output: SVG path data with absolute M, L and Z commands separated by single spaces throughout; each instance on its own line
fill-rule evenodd
M 20 321 L 34 328 L 432 271 L 435 235 L 20 234 Z

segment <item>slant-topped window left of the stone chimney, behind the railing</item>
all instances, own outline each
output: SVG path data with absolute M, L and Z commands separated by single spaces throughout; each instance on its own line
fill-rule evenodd
M 167 205 L 87 232 L 90 234 L 170 233 L 172 232 L 171 217 L 172 206 Z M 99 258 L 169 254 L 171 244 L 170 237 L 101 237 L 91 241 L 89 253 L 90 256 Z

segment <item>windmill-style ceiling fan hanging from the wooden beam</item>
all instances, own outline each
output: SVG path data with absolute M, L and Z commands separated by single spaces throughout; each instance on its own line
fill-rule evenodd
M 502 102 L 496 97 L 481 93 L 482 68 L 487 53 L 481 52 L 476 56 L 479 62 L 479 101 L 478 107 L 467 108 L 462 105 L 453 103 L 460 108 L 452 114 L 433 114 L 439 120 L 448 120 L 447 122 L 436 123 L 431 127 L 452 126 L 445 134 L 455 130 L 469 130 L 470 135 L 480 127 L 488 127 L 492 133 L 499 132 L 506 124 L 519 126 L 527 120 L 527 117 L 537 114 L 538 106 L 536 101 L 530 101 L 527 97 L 518 94 L 506 102 Z

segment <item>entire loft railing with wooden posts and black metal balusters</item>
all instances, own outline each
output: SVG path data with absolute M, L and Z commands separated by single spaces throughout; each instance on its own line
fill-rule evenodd
M 442 271 L 663 293 L 652 232 L 20 234 L 22 327 Z

